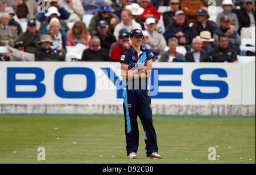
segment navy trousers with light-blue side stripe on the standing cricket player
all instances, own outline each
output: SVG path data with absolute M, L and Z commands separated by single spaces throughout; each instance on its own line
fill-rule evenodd
M 137 116 L 141 119 L 147 157 L 158 152 L 156 133 L 152 121 L 151 97 L 147 89 L 123 89 L 123 112 L 125 114 L 125 135 L 127 155 L 137 152 L 139 129 Z

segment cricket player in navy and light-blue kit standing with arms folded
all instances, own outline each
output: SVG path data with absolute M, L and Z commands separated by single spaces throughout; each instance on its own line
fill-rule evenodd
M 127 158 L 137 159 L 139 146 L 139 130 L 137 116 L 141 119 L 144 129 L 147 158 L 162 159 L 158 154 L 156 133 L 152 121 L 151 97 L 147 89 L 151 75 L 154 54 L 142 48 L 143 33 L 140 29 L 130 32 L 131 48 L 121 57 L 122 79 L 126 88 L 123 89 L 123 112 L 125 114 L 125 135 Z

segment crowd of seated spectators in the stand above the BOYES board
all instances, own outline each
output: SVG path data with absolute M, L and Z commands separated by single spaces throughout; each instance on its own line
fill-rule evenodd
M 254 3 L 223 0 L 212 21 L 204 0 L 170 0 L 163 13 L 155 0 L 0 0 L 0 46 L 35 54 L 35 61 L 65 61 L 67 46 L 84 48 L 80 61 L 120 61 L 131 46 L 130 31 L 138 28 L 156 62 L 237 62 L 241 38 L 249 30 L 255 36 Z M 84 15 L 93 15 L 88 26 Z M 27 23 L 25 32 L 21 22 Z M 185 54 L 177 52 L 179 46 Z

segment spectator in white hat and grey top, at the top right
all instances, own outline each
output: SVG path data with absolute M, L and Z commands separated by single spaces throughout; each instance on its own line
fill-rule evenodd
M 217 14 L 216 24 L 218 27 L 220 27 L 220 19 L 226 15 L 230 19 L 230 24 L 234 25 L 234 30 L 238 31 L 239 23 L 238 23 L 237 15 L 231 11 L 232 7 L 233 7 L 232 0 L 222 1 L 223 11 Z

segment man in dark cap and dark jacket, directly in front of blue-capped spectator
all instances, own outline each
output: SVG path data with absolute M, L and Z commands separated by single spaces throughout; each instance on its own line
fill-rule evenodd
M 117 40 L 113 33 L 108 31 L 108 28 L 108 23 L 105 20 L 100 20 L 97 27 L 98 32 L 95 35 L 101 40 L 101 48 L 106 49 L 109 54 L 110 46 Z

